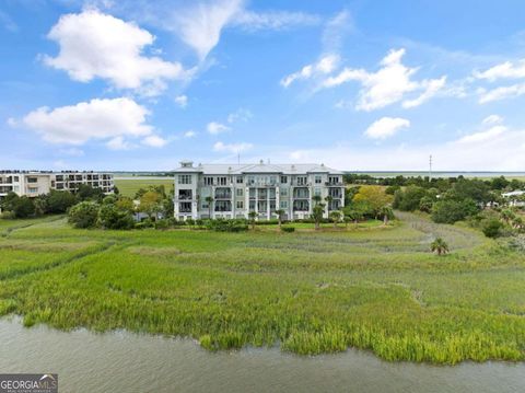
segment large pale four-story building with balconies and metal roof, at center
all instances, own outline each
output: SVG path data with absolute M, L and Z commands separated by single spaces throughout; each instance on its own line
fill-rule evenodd
M 199 164 L 180 163 L 175 171 L 174 215 L 187 218 L 310 218 L 313 197 L 326 204 L 325 217 L 345 205 L 342 172 L 324 164 Z

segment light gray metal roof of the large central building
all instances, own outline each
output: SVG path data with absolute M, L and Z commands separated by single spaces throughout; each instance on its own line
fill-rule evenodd
M 222 175 L 222 174 L 256 174 L 256 173 L 275 173 L 275 174 L 307 174 L 307 173 L 330 173 L 341 175 L 342 172 L 325 166 L 324 164 L 199 164 L 195 166 L 180 166 L 174 172 L 195 173 L 199 172 L 205 175 Z

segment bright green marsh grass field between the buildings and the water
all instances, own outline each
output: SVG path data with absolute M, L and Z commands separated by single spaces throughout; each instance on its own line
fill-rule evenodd
M 187 336 L 212 350 L 524 360 L 525 256 L 466 228 L 399 217 L 389 228 L 295 233 L 0 221 L 0 314 Z M 428 252 L 435 235 L 450 255 Z

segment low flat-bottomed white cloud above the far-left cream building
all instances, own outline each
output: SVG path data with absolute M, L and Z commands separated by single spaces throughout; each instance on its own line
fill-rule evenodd
M 90 139 L 144 137 L 153 128 L 145 123 L 148 109 L 126 97 L 92 100 L 55 109 L 39 107 L 22 124 L 51 143 L 82 145 Z M 121 145 L 121 143 L 120 143 Z M 118 146 L 114 141 L 112 146 Z

